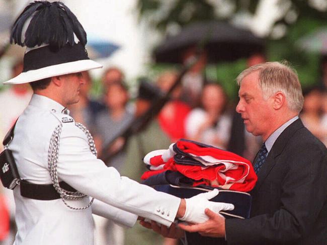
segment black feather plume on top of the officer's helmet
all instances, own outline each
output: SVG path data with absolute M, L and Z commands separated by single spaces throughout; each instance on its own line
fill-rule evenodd
M 30 18 L 31 21 L 23 33 L 24 25 Z M 10 42 L 29 48 L 49 44 L 50 47 L 59 49 L 67 43 L 74 45 L 74 33 L 79 42 L 85 46 L 87 35 L 83 26 L 63 3 L 34 1 L 24 9 L 14 23 Z

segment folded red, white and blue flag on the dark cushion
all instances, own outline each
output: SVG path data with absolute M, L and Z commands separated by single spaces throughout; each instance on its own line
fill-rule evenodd
M 170 145 L 169 149 L 151 151 L 143 160 L 150 171 L 142 175 L 142 180 L 170 170 L 194 180 L 193 186 L 204 184 L 249 192 L 257 182 L 257 175 L 248 159 L 186 139 Z

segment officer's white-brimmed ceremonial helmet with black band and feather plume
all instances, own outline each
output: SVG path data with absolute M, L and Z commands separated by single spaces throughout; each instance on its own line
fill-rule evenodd
M 27 48 L 22 73 L 4 84 L 25 84 L 102 67 L 88 57 L 87 34 L 61 2 L 29 4 L 14 23 L 10 42 Z

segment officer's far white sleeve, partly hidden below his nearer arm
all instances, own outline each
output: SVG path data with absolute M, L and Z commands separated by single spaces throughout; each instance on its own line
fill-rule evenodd
M 117 224 L 124 225 L 129 228 L 133 227 L 137 220 L 136 214 L 126 212 L 97 199 L 94 199 L 91 208 L 92 213 L 110 219 Z

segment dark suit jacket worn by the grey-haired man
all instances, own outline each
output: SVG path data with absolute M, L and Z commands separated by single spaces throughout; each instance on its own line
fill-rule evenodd
M 228 244 L 327 244 L 327 149 L 298 119 L 277 138 L 250 219 L 226 219 Z

